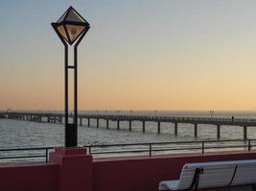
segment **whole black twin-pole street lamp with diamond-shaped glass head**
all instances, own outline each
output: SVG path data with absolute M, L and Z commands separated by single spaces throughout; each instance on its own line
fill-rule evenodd
M 89 30 L 89 23 L 74 8 L 65 11 L 52 26 L 65 47 L 65 147 L 78 146 L 78 46 L 85 33 Z M 75 43 L 76 42 L 76 43 Z M 74 45 L 74 63 L 68 63 L 68 45 Z M 68 70 L 74 72 L 74 116 L 73 123 L 68 122 Z

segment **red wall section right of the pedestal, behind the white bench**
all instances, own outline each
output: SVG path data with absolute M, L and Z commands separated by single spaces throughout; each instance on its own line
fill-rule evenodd
M 93 162 L 93 191 L 155 191 L 160 180 L 178 179 L 184 163 L 256 159 L 256 153 L 145 159 L 97 159 Z

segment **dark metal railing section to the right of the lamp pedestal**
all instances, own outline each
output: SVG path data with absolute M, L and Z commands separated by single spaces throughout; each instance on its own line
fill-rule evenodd
M 253 144 L 254 143 L 254 144 Z M 176 153 L 200 153 L 221 152 L 241 150 L 250 152 L 256 146 L 256 139 L 223 139 L 223 140 L 193 140 L 193 141 L 170 141 L 170 142 L 150 142 L 132 144 L 101 144 L 84 145 L 91 155 L 124 155 L 143 154 L 152 156 L 157 154 Z

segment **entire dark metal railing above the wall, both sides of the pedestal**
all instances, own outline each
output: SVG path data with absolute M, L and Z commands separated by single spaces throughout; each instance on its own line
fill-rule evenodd
M 162 154 L 206 154 L 207 152 L 245 151 L 251 152 L 256 146 L 256 139 L 222 139 L 192 140 L 169 142 L 144 142 L 125 144 L 84 145 L 94 157 L 156 156 Z M 0 161 L 16 159 L 36 160 L 49 159 L 49 151 L 54 147 L 10 148 L 0 149 Z M 41 160 L 40 160 L 41 161 Z

